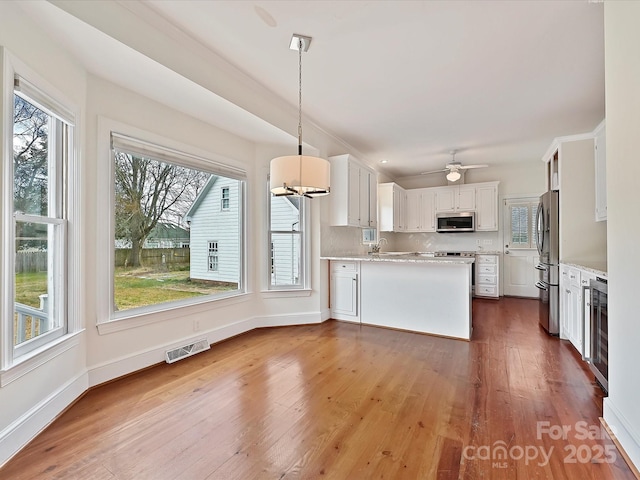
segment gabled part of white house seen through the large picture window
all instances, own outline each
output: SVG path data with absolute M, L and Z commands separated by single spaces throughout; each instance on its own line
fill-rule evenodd
M 191 278 L 239 283 L 240 182 L 212 175 L 185 215 Z

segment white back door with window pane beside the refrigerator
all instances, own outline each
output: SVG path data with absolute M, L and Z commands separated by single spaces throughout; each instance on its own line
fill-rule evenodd
M 515 297 L 538 297 L 538 250 L 535 246 L 534 223 L 537 197 L 504 201 L 503 293 Z

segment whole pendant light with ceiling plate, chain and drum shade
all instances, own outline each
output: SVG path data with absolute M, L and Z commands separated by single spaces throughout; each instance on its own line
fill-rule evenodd
M 294 34 L 289 47 L 298 50 L 298 154 L 271 160 L 269 188 L 275 196 L 319 197 L 330 190 L 329 161 L 302 154 L 302 51 L 310 43 L 311 37 Z

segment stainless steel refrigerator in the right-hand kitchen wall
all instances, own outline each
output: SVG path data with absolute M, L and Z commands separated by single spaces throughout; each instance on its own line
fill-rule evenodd
M 540 261 L 536 265 L 540 280 L 540 325 L 551 335 L 560 333 L 560 234 L 558 192 L 549 191 L 540 197 L 536 213 L 535 239 Z

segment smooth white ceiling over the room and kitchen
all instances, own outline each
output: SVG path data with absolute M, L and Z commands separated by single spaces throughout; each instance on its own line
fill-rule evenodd
M 452 149 L 463 164 L 539 161 L 554 137 L 589 132 L 604 118 L 597 1 L 144 6 L 296 108 L 298 59 L 288 46 L 293 33 L 313 37 L 303 54 L 303 122 L 371 163 L 387 160 L 379 167 L 393 177 L 441 168 Z M 73 37 L 69 45 L 83 56 Z M 202 87 L 192 87 L 195 99 Z

